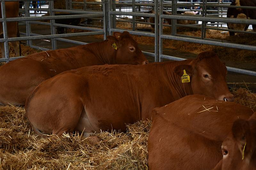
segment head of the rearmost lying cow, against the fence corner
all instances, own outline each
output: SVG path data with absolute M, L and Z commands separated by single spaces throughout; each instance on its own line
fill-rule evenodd
M 112 39 L 116 43 L 116 64 L 148 64 L 148 60 L 141 52 L 138 43 L 129 32 L 114 32 L 113 36 L 108 36 L 108 39 Z

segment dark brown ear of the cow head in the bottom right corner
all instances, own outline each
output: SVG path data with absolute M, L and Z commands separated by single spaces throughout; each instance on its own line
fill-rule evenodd
M 233 123 L 232 126 L 233 137 L 236 140 L 239 150 L 244 155 L 246 137 L 250 136 L 250 125 L 249 122 L 243 119 L 238 119 Z M 247 145 L 248 148 L 248 145 Z

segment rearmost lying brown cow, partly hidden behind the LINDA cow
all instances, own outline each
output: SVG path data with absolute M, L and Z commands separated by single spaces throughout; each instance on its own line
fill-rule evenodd
M 41 82 L 67 70 L 103 64 L 147 64 L 129 32 L 114 32 L 102 42 L 40 52 L 0 67 L 0 103 L 24 105 Z

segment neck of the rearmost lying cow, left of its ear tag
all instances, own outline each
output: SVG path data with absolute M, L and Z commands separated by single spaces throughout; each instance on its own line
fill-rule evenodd
M 116 49 L 112 47 L 113 40 L 104 40 L 91 44 L 91 51 L 104 64 L 116 64 Z M 116 43 L 117 44 L 117 43 Z

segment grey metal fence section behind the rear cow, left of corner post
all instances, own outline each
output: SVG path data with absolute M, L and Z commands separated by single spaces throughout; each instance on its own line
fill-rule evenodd
M 43 50 L 49 50 L 46 48 L 42 48 L 39 46 L 34 46 L 32 44 L 33 39 L 52 39 L 52 50 L 57 49 L 57 40 L 58 41 L 64 41 L 64 42 L 70 42 L 75 44 L 87 44 L 84 42 L 78 42 L 75 40 L 70 39 L 64 39 L 65 37 L 74 37 L 74 36 L 86 36 L 86 35 L 99 35 L 104 34 L 104 39 L 107 37 L 107 23 L 106 23 L 106 6 L 103 3 L 102 9 L 103 11 L 97 12 L 97 11 L 78 11 L 78 10 L 62 10 L 62 9 L 54 9 L 53 1 L 49 1 L 49 8 L 43 9 L 43 8 L 29 8 L 29 1 L 28 0 L 22 0 L 24 1 L 24 7 L 25 10 L 25 16 L 26 17 L 20 17 L 20 18 L 6 18 L 6 11 L 5 11 L 5 2 L 8 1 L 18 1 L 18 0 L 1 0 L 1 8 L 2 8 L 2 18 L 0 18 L 0 22 L 3 23 L 3 30 L 4 30 L 4 38 L 0 39 L 0 42 L 4 42 L 4 49 L 5 49 L 5 58 L 0 59 L 0 62 L 3 61 L 10 61 L 15 60 L 19 57 L 12 57 L 9 58 L 9 46 L 8 42 L 11 41 L 21 41 L 21 40 L 27 40 L 27 45 L 31 46 L 36 49 L 43 49 Z M 50 16 L 41 16 L 41 17 L 30 17 L 30 11 L 46 11 L 50 14 Z M 58 15 L 54 16 L 54 12 L 65 12 L 65 13 L 71 13 L 72 15 Z M 73 15 L 74 14 L 74 15 Z M 74 25 L 65 25 L 65 24 L 57 24 L 55 23 L 55 19 L 72 19 L 72 18 L 94 18 L 94 17 L 101 17 L 103 18 L 103 26 L 102 28 L 92 28 L 89 26 L 74 26 Z M 47 22 L 41 22 L 38 20 L 50 20 L 50 23 Z M 24 35 L 23 37 L 16 37 L 16 38 L 8 38 L 8 31 L 7 31 L 7 25 L 6 22 L 9 21 L 25 21 L 26 25 L 26 32 L 20 32 L 20 35 Z M 49 25 L 51 28 L 51 34 L 50 35 L 40 35 L 35 34 L 31 32 L 31 24 L 41 24 L 41 25 Z M 64 33 L 64 34 L 56 34 L 56 27 L 66 27 L 66 28 L 74 28 L 74 29 L 81 29 L 81 30 L 87 30 L 91 32 L 77 32 L 77 33 Z

